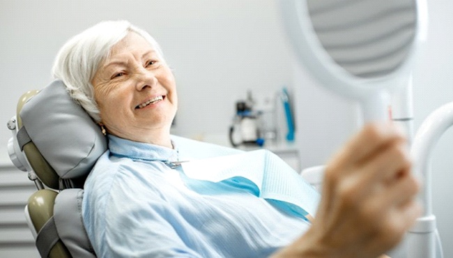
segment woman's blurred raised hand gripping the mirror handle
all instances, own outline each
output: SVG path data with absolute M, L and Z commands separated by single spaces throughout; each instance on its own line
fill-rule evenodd
M 312 227 L 277 257 L 375 258 L 393 248 L 421 213 L 410 168 L 395 126 L 365 126 L 328 163 Z

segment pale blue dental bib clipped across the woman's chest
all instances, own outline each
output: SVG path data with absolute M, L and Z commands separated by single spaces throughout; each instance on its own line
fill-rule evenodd
M 181 137 L 173 139 L 187 177 L 215 183 L 227 181 L 293 215 L 316 215 L 318 192 L 274 153 L 244 152 Z

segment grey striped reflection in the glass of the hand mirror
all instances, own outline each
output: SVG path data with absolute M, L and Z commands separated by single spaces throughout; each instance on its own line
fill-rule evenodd
M 313 29 L 333 61 L 358 77 L 392 73 L 415 37 L 415 1 L 307 0 Z

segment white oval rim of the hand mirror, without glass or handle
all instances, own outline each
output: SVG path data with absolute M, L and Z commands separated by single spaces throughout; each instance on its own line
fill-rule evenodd
M 417 20 L 413 45 L 406 60 L 392 73 L 383 77 L 361 78 L 351 75 L 330 58 L 318 40 L 310 20 L 306 0 L 280 0 L 282 19 L 295 50 L 295 55 L 326 88 L 346 98 L 363 100 L 378 91 L 394 91 L 408 84 L 421 43 L 427 38 L 426 0 L 414 0 Z

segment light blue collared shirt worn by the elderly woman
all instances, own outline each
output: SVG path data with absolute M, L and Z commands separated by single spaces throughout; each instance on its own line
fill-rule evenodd
M 232 181 L 192 179 L 171 168 L 177 160 L 236 149 L 181 137 L 172 142 L 168 149 L 109 135 L 109 150 L 86 180 L 82 203 L 98 257 L 267 257 L 309 228 Z

